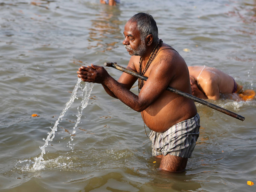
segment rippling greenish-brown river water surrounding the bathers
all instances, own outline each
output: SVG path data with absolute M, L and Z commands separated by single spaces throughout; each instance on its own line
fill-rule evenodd
M 255 99 L 209 100 L 244 122 L 196 104 L 200 136 L 186 170 L 174 174 L 157 169 L 140 114 L 101 85 L 94 84 L 77 124 L 83 97 L 78 89 L 41 166 L 32 169 L 77 83 L 79 66 L 127 66 L 123 28 L 138 12 L 153 15 L 159 38 L 188 66 L 216 67 L 256 90 L 253 0 L 121 0 L 115 7 L 98 0 L 2 1 L 0 191 L 255 191 L 256 185 L 247 185 L 256 182 Z M 107 70 L 115 79 L 121 75 Z M 136 83 L 131 91 L 138 93 Z

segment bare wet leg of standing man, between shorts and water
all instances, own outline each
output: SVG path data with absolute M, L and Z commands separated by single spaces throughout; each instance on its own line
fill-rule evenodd
M 188 158 L 178 157 L 174 155 L 162 155 L 159 169 L 169 172 L 183 171 L 187 166 Z

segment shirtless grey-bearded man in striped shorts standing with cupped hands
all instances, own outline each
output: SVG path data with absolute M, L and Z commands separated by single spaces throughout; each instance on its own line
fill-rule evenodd
M 148 77 L 147 81 L 138 81 L 138 95 L 130 91 L 137 78 L 127 73 L 122 73 L 116 81 L 104 67 L 91 64 L 81 66 L 78 77 L 102 84 L 110 96 L 141 112 L 151 130 L 152 154 L 161 158 L 159 168 L 183 171 L 199 136 L 200 117 L 194 101 L 166 88 L 191 94 L 188 67 L 176 50 L 159 40 L 151 15 L 138 13 L 131 17 L 123 34 L 123 44 L 131 55 L 127 68 Z

